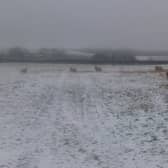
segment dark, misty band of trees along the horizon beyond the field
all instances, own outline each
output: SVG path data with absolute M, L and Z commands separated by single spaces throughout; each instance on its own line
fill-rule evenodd
M 38 50 L 28 50 L 25 48 L 14 47 L 0 52 L 0 62 L 53 62 L 53 63 L 105 63 L 105 64 L 138 64 L 136 52 L 133 50 L 83 50 L 82 56 L 67 54 L 64 49 L 41 48 Z M 92 56 L 86 57 L 86 53 L 93 53 Z M 147 63 L 153 63 L 147 62 Z

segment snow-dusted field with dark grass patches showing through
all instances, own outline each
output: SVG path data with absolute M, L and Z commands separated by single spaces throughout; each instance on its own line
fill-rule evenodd
M 102 68 L 0 64 L 0 168 L 167 168 L 168 80 Z

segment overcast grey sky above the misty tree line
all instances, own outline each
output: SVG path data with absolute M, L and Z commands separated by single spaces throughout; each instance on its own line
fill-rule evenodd
M 1 0 L 0 47 L 168 49 L 167 0 Z

